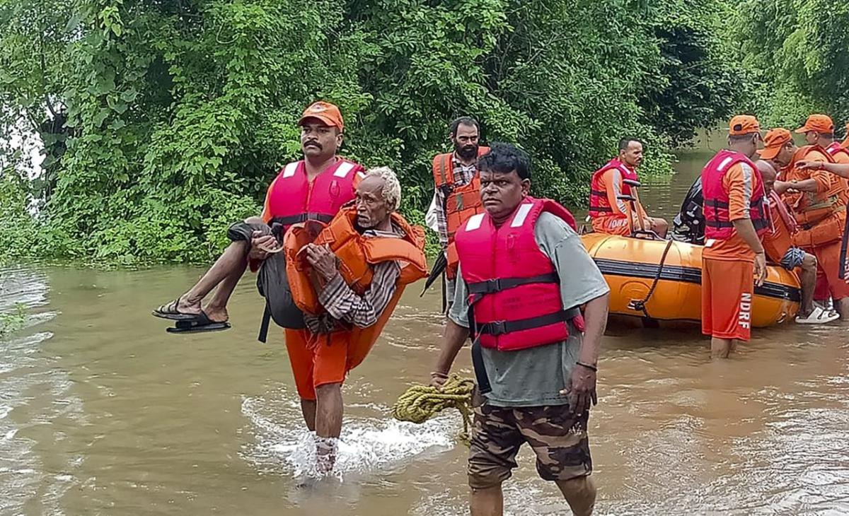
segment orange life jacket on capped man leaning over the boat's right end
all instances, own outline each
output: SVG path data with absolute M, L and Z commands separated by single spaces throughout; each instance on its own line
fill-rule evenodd
M 818 152 L 825 157 L 827 162 L 834 163 L 831 155 L 825 149 L 818 145 L 807 145 L 797 150 L 796 154 L 794 154 L 793 161 L 790 163 L 789 170 L 786 174 L 787 181 L 804 181 L 811 178 L 810 171 L 799 171 L 796 169 L 795 164 L 797 161 L 805 160 L 812 152 Z M 800 232 L 811 229 L 818 222 L 824 221 L 828 216 L 846 207 L 846 205 L 841 203 L 845 188 L 843 188 L 840 179 L 841 177 L 839 176 L 829 175 L 830 186 L 825 192 L 785 194 L 784 199 L 793 210 L 793 216 L 796 217 Z

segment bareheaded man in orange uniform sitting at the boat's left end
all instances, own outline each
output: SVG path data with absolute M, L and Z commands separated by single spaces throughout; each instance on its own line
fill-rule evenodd
M 637 138 L 625 137 L 619 141 L 619 156 L 608 161 L 593 173 L 589 191 L 589 216 L 593 219 L 593 231 L 628 236 L 627 213 L 631 210 L 620 195 L 631 195 L 631 187 L 624 180 L 638 181 L 637 167 L 643 163 L 643 143 Z M 669 223 L 661 218 L 646 215 L 643 206 L 637 205 L 632 214 L 634 227 L 638 217 L 643 226 L 666 238 Z

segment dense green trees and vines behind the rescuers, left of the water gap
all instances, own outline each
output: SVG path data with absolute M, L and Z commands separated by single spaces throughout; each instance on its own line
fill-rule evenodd
M 723 3 L 649 4 L 0 0 L 0 122 L 48 155 L 28 178 L 5 154 L 0 253 L 207 260 L 299 154 L 318 98 L 340 105 L 346 154 L 399 172 L 413 220 L 466 114 L 528 149 L 536 194 L 582 207 L 621 135 L 665 171 L 663 149 L 738 101 Z

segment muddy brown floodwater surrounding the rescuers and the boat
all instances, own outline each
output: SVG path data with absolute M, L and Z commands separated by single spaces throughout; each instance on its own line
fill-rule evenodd
M 706 154 L 644 185 L 672 218 Z M 467 513 L 458 414 L 424 425 L 389 409 L 428 379 L 438 289 L 408 289 L 346 382 L 338 480 L 297 487 L 310 463 L 281 332 L 256 342 L 245 278 L 233 329 L 173 336 L 149 316 L 200 269 L 0 269 L 0 514 L 456 515 Z M 849 513 L 849 324 L 754 333 L 711 363 L 696 328 L 610 328 L 591 445 L 598 514 Z M 470 375 L 468 350 L 456 370 Z M 568 514 L 524 450 L 506 513 Z

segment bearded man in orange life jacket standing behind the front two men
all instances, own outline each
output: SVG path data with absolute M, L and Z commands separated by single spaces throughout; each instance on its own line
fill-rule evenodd
M 446 253 L 446 306 L 454 299 L 454 279 L 457 276 L 457 253 L 454 233 L 469 216 L 483 212 L 481 183 L 477 177 L 478 157 L 489 152 L 481 146 L 481 128 L 469 116 L 451 122 L 449 133 L 453 152 L 436 154 L 433 159 L 433 202 L 428 210 L 429 226 L 439 235 L 442 252 Z

